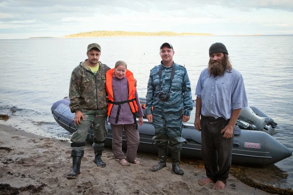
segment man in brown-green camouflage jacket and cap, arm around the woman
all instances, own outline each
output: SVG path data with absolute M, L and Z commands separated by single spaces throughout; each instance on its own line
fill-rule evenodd
M 106 116 L 108 99 L 106 98 L 106 72 L 110 69 L 99 61 L 101 47 L 96 43 L 88 45 L 88 59 L 76 66 L 71 74 L 69 86 L 70 110 L 75 113 L 76 131 L 71 137 L 72 171 L 67 175 L 75 179 L 79 175 L 81 158 L 89 127 L 93 123 L 95 162 L 98 167 L 105 167 L 101 160 L 106 139 Z

